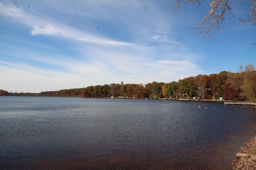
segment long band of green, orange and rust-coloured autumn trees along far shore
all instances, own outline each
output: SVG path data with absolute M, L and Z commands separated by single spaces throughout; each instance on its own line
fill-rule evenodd
M 252 63 L 239 72 L 190 76 L 178 82 L 148 84 L 105 84 L 40 93 L 13 93 L 0 90 L 0 96 L 72 96 L 84 98 L 151 98 L 151 99 L 208 99 L 255 102 L 256 71 Z

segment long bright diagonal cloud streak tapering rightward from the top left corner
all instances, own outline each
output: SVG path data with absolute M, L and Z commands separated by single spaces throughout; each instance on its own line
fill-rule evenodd
M 97 37 L 88 33 L 82 32 L 74 27 L 62 25 L 57 21 L 47 21 L 43 18 L 38 18 L 24 12 L 22 7 L 17 8 L 11 1 L 6 1 L 6 4 L 0 3 L 0 15 L 7 16 L 25 25 L 31 25 L 31 35 L 59 35 L 67 39 L 73 39 L 78 41 L 86 41 L 89 43 L 99 43 L 105 45 L 126 45 L 132 46 L 132 43 L 126 43 L 121 41 L 114 41 L 111 39 L 105 39 L 104 37 Z M 20 20 L 22 19 L 22 20 Z

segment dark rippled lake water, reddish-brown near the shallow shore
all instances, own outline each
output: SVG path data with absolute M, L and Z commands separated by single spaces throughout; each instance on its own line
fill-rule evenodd
M 227 170 L 254 135 L 219 102 L 0 97 L 1 170 Z

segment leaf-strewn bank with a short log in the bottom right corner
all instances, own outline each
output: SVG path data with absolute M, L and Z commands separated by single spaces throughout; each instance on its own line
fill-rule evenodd
M 256 137 L 254 137 L 240 153 L 236 154 L 233 170 L 256 170 Z

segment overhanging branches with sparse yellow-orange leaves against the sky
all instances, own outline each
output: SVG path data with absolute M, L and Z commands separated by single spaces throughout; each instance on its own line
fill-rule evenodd
M 176 10 L 182 6 L 182 4 L 186 3 L 198 3 L 199 5 L 204 0 L 176 0 Z M 243 0 L 244 3 L 248 3 L 248 0 Z M 208 2 L 208 1 L 207 1 Z M 212 0 L 210 2 L 210 10 L 209 14 L 204 16 L 203 20 L 196 24 L 196 27 L 190 27 L 191 30 L 198 30 L 197 33 L 203 33 L 202 37 L 210 37 L 213 33 L 221 31 L 224 27 L 224 23 L 226 20 L 226 14 L 229 13 L 233 18 L 233 22 L 235 20 L 235 16 L 232 13 L 232 8 L 230 4 L 232 0 Z M 252 25 L 256 25 L 256 0 L 251 0 L 251 9 L 248 9 L 246 14 L 247 18 L 239 18 L 241 23 L 246 23 L 247 21 L 251 21 Z

